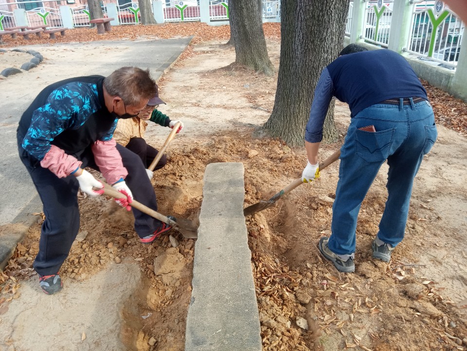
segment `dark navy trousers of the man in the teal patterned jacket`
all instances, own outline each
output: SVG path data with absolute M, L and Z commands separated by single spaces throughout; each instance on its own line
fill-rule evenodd
M 52 275 L 56 274 L 65 262 L 78 234 L 77 193 L 79 184 L 74 175 L 58 178 L 47 168 L 41 167 L 39 162 L 31 158 L 21 147 L 22 140 L 23 137 L 18 136 L 19 158 L 33 179 L 45 214 L 40 233 L 39 252 L 33 267 L 41 276 Z M 133 193 L 134 199 L 157 211 L 156 194 L 147 178 L 141 159 L 119 144 L 117 144 L 117 150 L 122 156 L 123 165 L 128 170 L 125 181 Z M 78 159 L 83 162 L 83 168 L 90 167 L 99 170 L 94 162 L 90 147 L 83 150 Z M 135 230 L 141 238 L 152 234 L 162 224 L 161 221 L 141 211 L 136 209 L 132 211 L 135 217 Z

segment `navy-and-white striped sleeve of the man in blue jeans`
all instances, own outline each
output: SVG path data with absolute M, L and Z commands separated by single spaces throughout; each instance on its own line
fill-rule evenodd
M 323 140 L 323 124 L 329 103 L 332 99 L 333 83 L 329 71 L 325 68 L 321 72 L 320 80 L 316 85 L 313 103 L 310 109 L 310 118 L 306 123 L 305 140 L 308 142 L 320 142 Z

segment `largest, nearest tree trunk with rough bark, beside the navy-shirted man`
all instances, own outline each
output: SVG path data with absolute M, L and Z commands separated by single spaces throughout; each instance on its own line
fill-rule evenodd
M 264 124 L 272 137 L 304 145 L 313 91 L 321 71 L 342 49 L 348 0 L 281 2 L 281 56 L 274 108 Z M 337 141 L 334 102 L 323 142 Z

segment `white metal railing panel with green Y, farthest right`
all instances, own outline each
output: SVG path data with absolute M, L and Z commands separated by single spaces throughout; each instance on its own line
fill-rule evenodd
M 413 2 L 415 6 L 406 52 L 436 66 L 455 68 L 465 24 L 438 2 Z

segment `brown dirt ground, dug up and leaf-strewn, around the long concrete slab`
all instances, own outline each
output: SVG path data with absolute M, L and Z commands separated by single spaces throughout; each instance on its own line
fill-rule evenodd
M 272 110 L 277 73 L 221 69 L 234 61 L 234 50 L 221 44 L 196 44 L 161 81 L 162 112 L 185 123 L 169 145 L 167 166 L 152 180 L 161 213 L 196 219 L 204 169 L 212 162 L 244 163 L 245 206 L 268 199 L 305 166 L 303 147 L 258 130 Z M 268 49 L 277 69 L 279 41 L 268 40 Z M 342 143 L 350 121 L 345 104 L 336 104 L 335 119 L 340 140 L 323 146 L 321 160 Z M 389 264 L 370 250 L 387 196 L 386 165 L 360 210 L 355 273 L 339 273 L 316 247 L 330 233 L 339 161 L 318 181 L 246 218 L 263 350 L 467 350 L 467 143 L 443 125 L 438 131 L 415 180 L 406 237 Z M 146 134 L 155 147 L 167 135 L 156 126 Z M 82 196 L 80 208 L 85 238 L 61 269 L 64 288 L 110 263 L 137 262 L 147 278 L 145 294 L 122 312 L 121 337 L 129 350 L 183 350 L 195 240 L 172 230 L 144 246 L 131 214 L 112 200 Z M 21 298 L 21 280 L 34 273 L 39 230 L 40 223 L 30 229 L 4 273 L 0 318 L 2 306 Z M 301 318 L 308 329 L 298 326 L 304 327 Z

